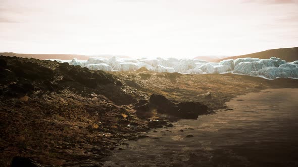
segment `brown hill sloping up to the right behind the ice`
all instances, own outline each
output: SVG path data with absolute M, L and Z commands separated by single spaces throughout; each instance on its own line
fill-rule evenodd
M 243 57 L 252 57 L 252 58 L 260 58 L 260 59 L 269 59 L 270 57 L 278 57 L 285 60 L 286 62 L 292 62 L 292 61 L 298 60 L 298 47 L 270 49 L 270 50 L 257 52 L 257 53 L 226 57 L 223 59 L 218 59 L 217 62 L 226 60 L 226 59 L 236 59 L 236 58 L 243 58 Z

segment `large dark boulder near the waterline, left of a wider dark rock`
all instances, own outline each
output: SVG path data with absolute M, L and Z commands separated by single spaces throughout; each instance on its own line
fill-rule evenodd
M 168 110 L 175 106 L 173 102 L 162 95 L 153 94 L 150 96 L 150 104 L 153 104 L 160 113 L 167 113 Z

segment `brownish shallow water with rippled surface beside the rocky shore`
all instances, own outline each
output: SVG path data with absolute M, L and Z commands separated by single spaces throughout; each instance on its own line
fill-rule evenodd
M 298 89 L 250 93 L 226 104 L 233 110 L 125 141 L 105 166 L 298 166 Z

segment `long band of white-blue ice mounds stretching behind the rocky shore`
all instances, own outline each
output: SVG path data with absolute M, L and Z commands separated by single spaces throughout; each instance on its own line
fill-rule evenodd
M 54 59 L 49 59 L 54 61 Z M 55 59 L 57 60 L 57 59 Z M 67 60 L 57 60 L 58 62 L 66 62 Z M 280 58 L 271 57 L 270 59 L 259 58 L 237 58 L 235 60 L 228 59 L 221 62 L 206 62 L 197 59 L 177 59 L 177 58 L 161 58 L 156 59 L 132 59 L 111 57 L 110 59 L 95 57 L 89 58 L 87 61 L 68 60 L 71 65 L 80 65 L 91 70 L 105 71 L 132 71 L 141 67 L 145 67 L 150 71 L 156 72 L 180 72 L 189 74 L 204 73 L 237 73 L 252 76 L 262 76 L 268 79 L 277 77 L 298 78 L 298 60 L 286 62 Z

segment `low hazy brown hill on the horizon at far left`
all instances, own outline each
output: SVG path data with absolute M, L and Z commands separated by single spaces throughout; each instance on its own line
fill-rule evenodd
M 89 56 L 78 55 L 78 54 L 23 54 L 23 53 L 13 53 L 13 52 L 4 52 L 0 53 L 3 56 L 17 56 L 23 58 L 36 58 L 40 60 L 44 59 L 61 59 L 61 60 L 71 60 L 73 58 L 77 58 L 80 60 L 88 60 Z

